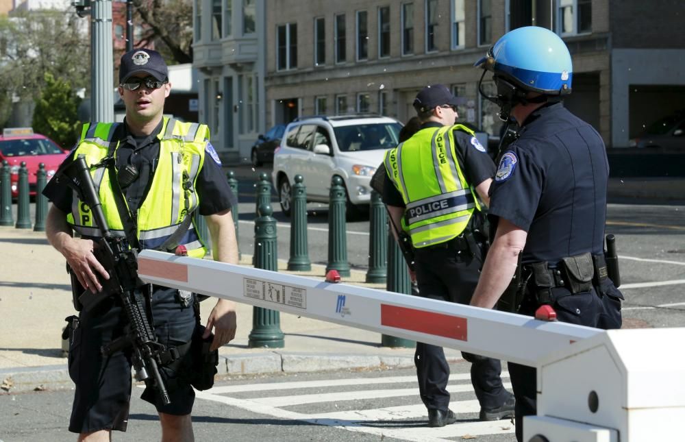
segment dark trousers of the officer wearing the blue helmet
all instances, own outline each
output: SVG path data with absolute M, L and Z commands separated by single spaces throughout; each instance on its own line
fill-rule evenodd
M 565 288 L 554 288 L 552 307 L 556 311 L 558 321 L 604 330 L 621 328 L 623 295 L 610 280 L 606 280 L 602 288 L 606 295 L 597 295 L 595 288 L 575 295 L 571 295 Z M 528 300 L 521 305 L 519 313 L 534 316 L 538 307 L 538 304 Z M 534 367 L 515 363 L 508 363 L 508 367 L 516 397 L 516 440 L 521 442 L 523 416 L 537 414 L 537 371 Z

